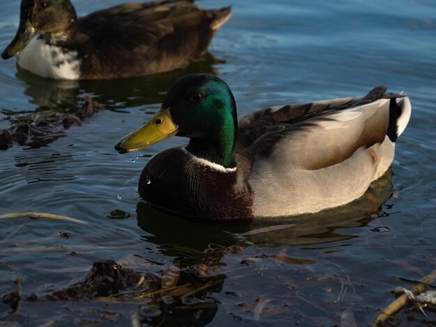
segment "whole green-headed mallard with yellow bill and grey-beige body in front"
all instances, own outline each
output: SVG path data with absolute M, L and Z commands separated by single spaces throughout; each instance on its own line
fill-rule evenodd
M 274 106 L 237 119 L 227 84 L 190 74 L 156 115 L 115 144 L 130 152 L 169 138 L 186 147 L 157 154 L 139 178 L 155 207 L 201 219 L 309 214 L 362 196 L 394 159 L 410 100 L 377 87 L 364 97 Z

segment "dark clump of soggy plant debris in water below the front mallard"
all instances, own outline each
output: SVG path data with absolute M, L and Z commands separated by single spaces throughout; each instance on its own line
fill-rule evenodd
M 171 269 L 179 264 L 176 260 Z M 134 305 L 130 317 L 132 326 L 152 323 L 155 326 L 163 321 L 170 326 L 178 326 L 176 322 L 180 319 L 180 314 L 174 313 L 178 310 L 192 311 L 193 314 L 186 317 L 189 321 L 203 315 L 205 317 L 202 319 L 212 317 L 206 312 L 215 312 L 218 302 L 209 296 L 209 292 L 220 287 L 224 282 L 223 276 L 198 278 L 192 272 L 181 269 L 180 280 L 175 278 L 170 282 L 174 286 L 166 286 L 166 278 L 164 272 L 162 276 L 159 273 L 139 273 L 113 260 L 97 260 L 83 280 L 62 289 L 51 290 L 44 296 L 35 297 L 33 301 L 24 297 L 24 301 L 26 305 L 32 302 L 33 308 L 44 305 L 47 301 L 75 301 L 75 308 L 86 305 L 88 301 L 104 305 Z M 99 307 L 94 305 L 92 310 L 95 308 Z M 192 326 L 189 322 L 183 325 Z

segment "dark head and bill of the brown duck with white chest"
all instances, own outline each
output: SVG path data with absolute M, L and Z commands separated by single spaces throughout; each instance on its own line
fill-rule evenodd
M 66 36 L 72 33 L 72 26 L 77 26 L 77 15 L 70 0 L 22 0 L 17 34 L 1 57 L 8 59 L 20 54 L 38 34 L 63 33 Z

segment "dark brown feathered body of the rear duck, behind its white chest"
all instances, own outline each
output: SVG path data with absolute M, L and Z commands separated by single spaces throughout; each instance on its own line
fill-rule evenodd
M 143 75 L 182 67 L 207 49 L 231 15 L 203 10 L 192 1 L 125 3 L 79 19 L 84 35 L 82 71 Z M 114 76 L 114 77 L 123 77 Z

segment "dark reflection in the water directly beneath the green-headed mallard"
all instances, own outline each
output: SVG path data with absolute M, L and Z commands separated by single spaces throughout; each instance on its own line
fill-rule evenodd
M 277 219 L 255 220 L 249 223 L 199 223 L 187 221 L 185 218 L 171 216 L 158 211 L 145 202 L 137 205 L 139 227 L 147 232 L 146 241 L 157 244 L 162 251 L 171 256 L 178 256 L 187 248 L 203 251 L 210 244 L 219 246 L 302 246 L 326 244 L 358 237 L 347 234 L 347 228 L 366 227 L 375 219 L 385 202 L 393 196 L 391 169 L 371 184 L 364 196 L 348 205 L 324 210 L 317 214 L 283 217 Z M 289 225 L 289 228 L 274 229 L 278 223 Z M 271 228 L 270 231 L 244 236 L 251 230 Z M 338 229 L 343 229 L 338 232 Z M 242 237 L 241 237 L 242 236 Z

